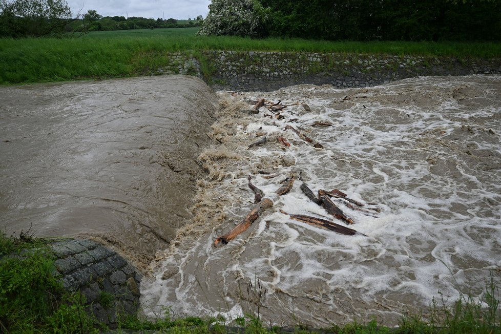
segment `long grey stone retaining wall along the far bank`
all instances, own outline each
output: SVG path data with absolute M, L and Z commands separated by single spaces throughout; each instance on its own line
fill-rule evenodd
M 173 53 L 171 64 L 158 73 L 192 74 L 215 90 L 239 91 L 301 83 L 370 87 L 416 76 L 501 74 L 501 59 L 254 51 L 204 51 L 198 58 Z

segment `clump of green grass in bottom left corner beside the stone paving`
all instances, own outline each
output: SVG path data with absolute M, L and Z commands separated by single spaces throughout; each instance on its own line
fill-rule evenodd
M 55 256 L 46 241 L 0 233 L 0 332 L 92 332 L 80 294 L 57 279 Z

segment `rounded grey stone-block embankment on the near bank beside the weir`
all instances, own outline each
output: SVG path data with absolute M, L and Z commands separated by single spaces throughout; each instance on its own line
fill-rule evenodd
M 141 275 L 124 258 L 91 240 L 51 244 L 55 266 L 66 290 L 80 291 L 87 311 L 114 327 L 118 314 L 135 314 L 139 307 Z

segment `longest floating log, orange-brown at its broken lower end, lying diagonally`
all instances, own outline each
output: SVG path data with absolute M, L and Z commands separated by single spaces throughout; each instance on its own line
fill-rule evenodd
M 249 226 L 251 226 L 251 224 L 258 219 L 264 211 L 273 206 L 273 203 L 278 200 L 279 196 L 287 194 L 292 189 L 295 180 L 296 178 L 294 176 L 286 178 L 282 183 L 282 186 L 277 189 L 275 194 L 263 198 L 261 202 L 254 205 L 251 212 L 249 212 L 237 226 L 225 235 L 216 238 L 214 241 L 214 247 L 225 245 L 229 241 L 235 239 L 240 233 L 246 231 L 247 228 L 249 228 Z

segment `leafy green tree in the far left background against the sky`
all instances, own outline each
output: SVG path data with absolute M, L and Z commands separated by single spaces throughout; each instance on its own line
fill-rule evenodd
M 66 0 L 0 0 L 0 36 L 61 34 L 74 20 Z

